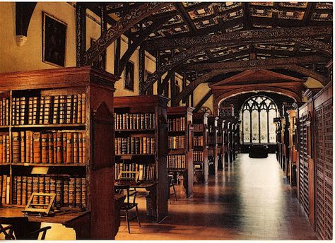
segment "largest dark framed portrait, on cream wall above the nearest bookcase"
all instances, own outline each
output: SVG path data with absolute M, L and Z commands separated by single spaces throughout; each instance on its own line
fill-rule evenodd
M 42 61 L 54 66 L 65 66 L 66 23 L 42 12 Z

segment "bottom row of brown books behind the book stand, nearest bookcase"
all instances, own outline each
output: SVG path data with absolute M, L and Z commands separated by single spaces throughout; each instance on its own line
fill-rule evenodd
M 13 178 L 13 204 L 25 205 L 33 192 L 54 193 L 53 206 L 86 208 L 85 177 L 16 176 Z M 34 196 L 33 203 L 49 204 L 50 197 Z

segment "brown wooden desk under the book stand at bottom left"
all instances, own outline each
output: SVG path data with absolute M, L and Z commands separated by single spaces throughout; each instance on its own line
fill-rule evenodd
M 90 239 L 90 212 L 64 208 L 50 217 L 23 216 L 22 207 L 0 208 L 0 223 L 13 225 L 17 239 L 40 229 L 41 223 L 59 223 L 76 231 L 76 239 Z

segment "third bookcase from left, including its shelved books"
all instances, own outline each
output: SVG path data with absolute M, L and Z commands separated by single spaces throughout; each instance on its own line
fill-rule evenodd
M 167 107 L 169 125 L 169 155 L 167 170 L 182 174 L 186 196 L 193 190 L 193 107 Z M 180 140 L 180 138 L 182 138 Z

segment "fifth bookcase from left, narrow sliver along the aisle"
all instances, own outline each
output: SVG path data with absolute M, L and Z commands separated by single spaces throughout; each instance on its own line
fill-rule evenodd
M 218 117 L 208 117 L 208 174 L 218 172 Z

